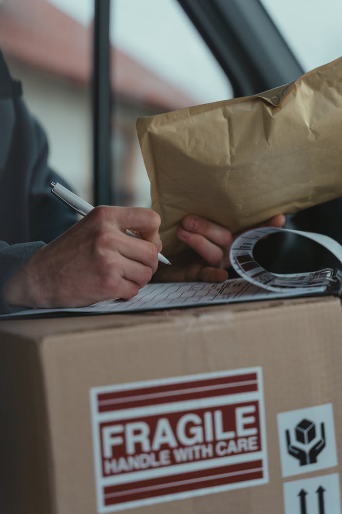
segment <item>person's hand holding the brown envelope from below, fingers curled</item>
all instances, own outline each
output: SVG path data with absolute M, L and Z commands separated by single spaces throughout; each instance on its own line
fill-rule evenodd
M 278 214 L 257 226 L 280 228 L 284 223 L 284 214 Z M 179 256 L 178 262 L 171 259 L 172 266 L 160 267 L 153 280 L 223 282 L 228 278 L 226 268 L 230 267 L 229 250 L 237 235 L 232 236 L 227 228 L 208 219 L 192 215 L 185 216 L 177 236 L 180 241 L 196 252 L 197 258 L 186 264 L 182 264 L 182 255 Z

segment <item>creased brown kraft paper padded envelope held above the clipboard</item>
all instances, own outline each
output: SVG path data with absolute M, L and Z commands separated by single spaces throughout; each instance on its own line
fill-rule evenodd
M 233 233 L 342 196 L 342 58 L 258 95 L 139 118 L 163 252 L 186 214 Z

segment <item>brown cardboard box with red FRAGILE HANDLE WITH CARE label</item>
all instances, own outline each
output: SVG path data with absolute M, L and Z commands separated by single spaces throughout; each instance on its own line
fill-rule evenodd
M 0 323 L 2 514 L 340 514 L 338 298 Z

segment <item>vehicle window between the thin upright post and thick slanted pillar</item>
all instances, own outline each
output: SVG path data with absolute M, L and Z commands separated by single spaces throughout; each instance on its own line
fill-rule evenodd
M 232 97 L 232 88 L 176 0 L 112 0 L 112 203 L 150 205 L 140 116 Z

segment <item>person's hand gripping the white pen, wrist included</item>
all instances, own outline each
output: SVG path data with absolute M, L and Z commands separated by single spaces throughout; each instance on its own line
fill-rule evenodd
M 7 284 L 5 299 L 10 305 L 52 308 L 132 298 L 157 269 L 159 225 L 159 215 L 150 209 L 96 207 L 33 254 Z

